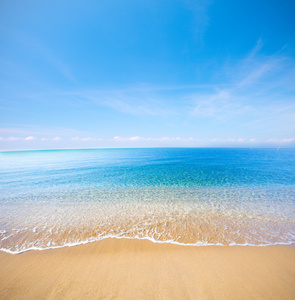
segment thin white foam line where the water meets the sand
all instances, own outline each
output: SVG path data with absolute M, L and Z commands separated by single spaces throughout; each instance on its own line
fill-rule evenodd
M 68 243 L 68 244 L 64 244 L 64 245 L 60 245 L 60 246 L 52 246 L 52 247 L 30 247 L 24 250 L 20 250 L 20 251 L 12 251 L 10 249 L 5 249 L 5 248 L 0 248 L 0 251 L 9 253 L 9 254 L 21 254 L 24 252 L 28 252 L 31 250 L 38 250 L 38 251 L 44 251 L 44 250 L 50 250 L 50 249 L 59 249 L 59 248 L 64 248 L 64 247 L 75 247 L 75 246 L 79 246 L 79 245 L 85 245 L 85 244 L 89 244 L 89 243 L 93 243 L 93 242 L 98 242 L 98 241 L 102 241 L 105 239 L 128 239 L 128 240 L 149 240 L 155 244 L 173 244 L 173 245 L 178 245 L 178 246 L 189 246 L 189 247 L 207 247 L 207 246 L 222 246 L 222 247 L 233 247 L 233 246 L 250 246 L 250 247 L 266 247 L 266 246 L 277 246 L 277 245 L 292 245 L 295 244 L 295 241 L 291 241 L 291 242 L 278 242 L 278 243 L 269 243 L 269 244 L 250 244 L 250 243 L 244 243 L 244 244 L 236 244 L 236 243 L 230 243 L 229 245 L 224 245 L 221 243 L 207 243 L 207 242 L 197 242 L 197 243 L 179 243 L 176 242 L 174 240 L 166 240 L 166 241 L 157 241 L 153 238 L 150 237 L 124 237 L 124 236 L 112 236 L 112 235 L 107 235 L 98 239 L 93 239 L 93 240 L 88 240 L 88 241 L 83 241 L 83 242 L 77 242 L 77 243 Z

